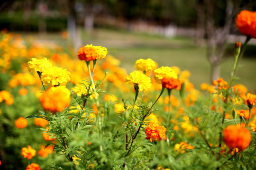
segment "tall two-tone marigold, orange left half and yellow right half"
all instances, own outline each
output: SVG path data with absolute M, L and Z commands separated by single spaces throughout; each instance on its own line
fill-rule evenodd
M 84 47 L 81 47 L 78 52 L 78 59 L 91 61 L 94 59 L 103 59 L 106 57 L 108 51 L 105 47 L 101 46 L 93 46 L 92 44 L 88 44 Z

